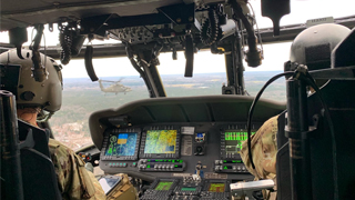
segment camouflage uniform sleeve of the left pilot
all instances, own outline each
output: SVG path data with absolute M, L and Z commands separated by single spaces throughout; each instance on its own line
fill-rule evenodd
M 52 139 L 49 140 L 49 149 L 63 199 L 106 199 L 99 181 L 73 150 Z

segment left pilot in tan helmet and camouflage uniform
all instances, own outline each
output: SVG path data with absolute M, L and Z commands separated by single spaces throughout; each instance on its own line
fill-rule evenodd
M 20 64 L 20 74 L 17 92 L 18 118 L 38 127 L 37 118 L 43 109 L 54 113 L 62 102 L 61 68 L 55 61 L 41 53 L 42 63 L 48 71 L 48 79 L 37 82 L 31 77 L 32 51 L 22 50 L 24 59 L 17 56 L 16 49 L 0 54 L 2 64 Z M 6 74 L 13 77 L 14 74 Z M 49 139 L 49 150 L 58 177 L 58 186 L 63 199 L 106 199 L 93 173 L 84 168 L 84 162 L 73 150 L 61 142 Z

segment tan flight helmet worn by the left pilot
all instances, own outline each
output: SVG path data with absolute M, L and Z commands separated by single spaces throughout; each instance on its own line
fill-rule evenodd
M 48 79 L 38 82 L 32 77 L 32 51 L 22 50 L 24 59 L 17 56 L 16 49 L 0 54 L 1 90 L 8 90 L 16 96 L 17 107 L 41 108 L 55 112 L 62 104 L 61 66 L 52 58 L 40 53 L 41 63 L 45 67 Z

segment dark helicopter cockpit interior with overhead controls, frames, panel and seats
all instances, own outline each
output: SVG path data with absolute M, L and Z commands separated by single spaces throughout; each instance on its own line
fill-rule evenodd
M 355 31 L 333 50 L 329 69 L 308 71 L 302 64 L 285 62 L 284 73 L 267 81 L 256 97 L 250 97 L 243 60 L 252 68 L 261 66 L 264 57 L 258 48 L 261 41 L 292 41 L 307 27 L 280 26 L 282 17 L 291 12 L 290 0 L 261 0 L 262 14 L 273 21 L 273 28 L 256 29 L 247 1 L 6 1 L 1 2 L 0 30 L 9 32 L 10 42 L 0 43 L 0 52 L 16 48 L 22 58 L 27 28 L 33 27 L 37 32 L 33 54 L 45 53 L 62 64 L 83 59 L 91 81 L 98 81 L 103 92 L 116 93 L 131 89 L 120 81 L 104 88 L 92 60 L 129 58 L 150 98 L 93 112 L 89 118 L 93 144 L 77 152 L 104 172 L 99 179 L 108 199 L 270 199 L 262 190 L 280 200 L 353 199 L 355 94 L 351 91 L 355 84 Z M 327 18 L 310 23 L 324 21 Z M 333 22 L 352 29 L 355 18 Z M 59 47 L 40 46 L 44 24 L 49 29 L 58 24 Z M 87 39 L 118 42 L 84 44 Z M 191 78 L 199 50 L 224 56 L 227 82 L 221 88 L 222 94 L 166 97 L 156 68 L 159 54 L 171 52 L 174 60 L 178 51 L 183 51 L 184 77 Z M 32 61 L 33 70 L 29 72 L 33 79 L 45 80 L 41 59 Z M 2 76 L 8 70 L 4 62 L 0 60 L 0 187 L 6 191 L 1 198 L 61 199 L 55 181 L 42 181 L 55 177 L 48 149 L 41 144 L 45 138 L 40 136 L 45 136 L 45 131 L 21 120 L 17 123 L 14 97 L 6 92 L 13 88 L 4 83 L 10 78 Z M 284 77 L 286 104 L 261 99 L 268 84 Z M 328 82 L 320 89 L 314 79 Z M 116 86 L 120 90 L 115 90 Z M 315 90 L 310 97 L 307 86 Z M 256 180 L 240 154 L 242 143 L 274 116 L 278 116 L 276 178 Z M 40 127 L 50 129 L 45 121 Z M 32 150 L 20 153 L 19 149 L 30 147 L 41 152 L 42 159 L 24 157 L 33 153 Z M 43 174 L 45 171 L 48 177 L 41 171 L 27 174 L 43 166 L 47 167 Z M 23 178 L 16 176 L 21 173 Z M 40 181 L 43 188 L 30 189 L 33 181 Z

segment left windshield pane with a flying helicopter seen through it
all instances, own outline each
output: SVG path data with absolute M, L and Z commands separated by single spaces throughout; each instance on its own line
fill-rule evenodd
M 92 112 L 108 108 L 119 108 L 126 102 L 149 98 L 146 87 L 138 72 L 135 74 L 134 72 L 133 74 L 126 73 L 128 76 L 114 72 L 115 68 L 121 71 L 130 71 L 133 69 L 130 64 L 116 67 L 113 64 L 116 63 L 116 60 L 109 59 L 106 62 L 111 67 L 103 68 L 111 71 L 112 76 L 116 74 L 116 77 L 104 77 L 98 70 L 97 74 L 102 80 L 103 90 L 115 86 L 118 91 L 104 92 L 98 81 L 92 82 L 88 77 L 79 76 L 82 70 L 84 71 L 81 62 L 83 60 L 73 60 L 64 67 L 62 107 L 50 119 L 55 139 L 74 150 L 92 143 L 89 130 L 89 117 Z M 67 70 L 69 68 L 72 69 Z M 121 87 L 129 87 L 131 91 L 120 92 Z

